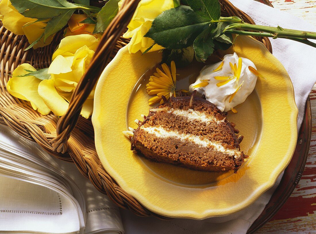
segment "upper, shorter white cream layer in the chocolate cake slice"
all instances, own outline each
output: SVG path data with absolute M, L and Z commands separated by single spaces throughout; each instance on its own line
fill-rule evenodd
M 185 110 L 179 110 L 179 109 L 172 108 L 168 111 L 168 113 L 172 113 L 172 114 L 177 115 L 177 116 L 187 117 L 191 121 L 197 120 L 197 121 L 205 122 L 205 123 L 217 122 L 217 124 L 219 124 L 219 123 L 225 121 L 225 119 L 218 120 L 214 116 L 206 116 L 203 112 L 194 111 L 192 109 L 188 109 L 185 111 Z

